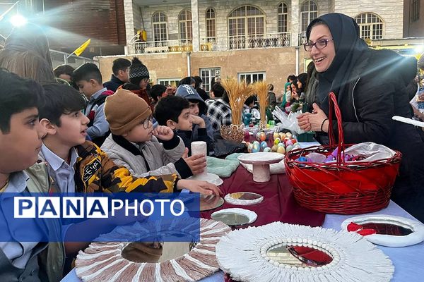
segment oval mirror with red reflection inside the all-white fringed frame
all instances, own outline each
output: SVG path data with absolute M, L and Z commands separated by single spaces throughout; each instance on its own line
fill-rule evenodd
M 266 256 L 274 262 L 293 266 L 318 267 L 329 264 L 333 261 L 331 255 L 323 249 L 305 247 L 298 245 L 287 245 L 286 243 L 273 245 L 266 252 Z

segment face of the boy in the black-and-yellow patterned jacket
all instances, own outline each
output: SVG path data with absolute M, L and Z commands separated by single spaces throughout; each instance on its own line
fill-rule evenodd
M 86 142 L 88 117 L 81 111 L 73 111 L 70 114 L 60 116 L 60 126 L 53 125 L 57 142 L 66 148 L 81 145 Z M 50 132 L 48 132 L 50 134 Z

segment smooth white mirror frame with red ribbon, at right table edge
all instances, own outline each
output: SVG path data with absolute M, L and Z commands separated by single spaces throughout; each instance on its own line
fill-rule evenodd
M 391 216 L 387 214 L 368 214 L 362 216 L 354 216 L 346 219 L 341 223 L 341 228 L 347 231 L 349 223 L 388 223 L 411 229 L 409 235 L 385 235 L 372 234 L 364 236 L 371 243 L 387 246 L 387 247 L 406 247 L 415 245 L 424 241 L 424 224 L 412 219 L 406 219 L 401 216 Z

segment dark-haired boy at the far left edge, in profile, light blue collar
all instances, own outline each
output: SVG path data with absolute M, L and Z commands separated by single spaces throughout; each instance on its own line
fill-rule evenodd
M 69 87 L 69 86 L 68 86 Z M 49 192 L 45 164 L 35 164 L 45 129 L 38 121 L 38 108 L 44 102 L 41 85 L 0 69 L 0 192 Z M 4 204 L 6 197 L 0 204 Z M 40 221 L 26 221 L 19 226 L 8 221 L 0 209 L 3 233 L 45 228 Z M 28 219 L 29 220 L 29 219 Z M 50 222 L 55 222 L 54 219 Z M 59 226 L 59 222 L 58 222 Z M 50 234 L 61 236 L 59 228 Z M 37 228 L 37 229 L 36 229 Z M 42 231 L 40 231 L 42 232 Z M 0 243 L 0 281 L 60 281 L 64 263 L 61 242 Z

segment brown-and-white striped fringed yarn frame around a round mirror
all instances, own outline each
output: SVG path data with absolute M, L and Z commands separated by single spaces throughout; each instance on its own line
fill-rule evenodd
M 133 226 L 115 228 L 101 238 L 136 238 L 146 230 L 140 223 Z M 215 247 L 220 238 L 231 229 L 224 223 L 211 219 L 200 219 L 200 242 L 187 254 L 160 263 L 131 262 L 122 257 L 122 250 L 128 242 L 95 242 L 76 257 L 76 275 L 84 282 L 113 281 L 158 281 L 179 282 L 198 281 L 218 271 Z

